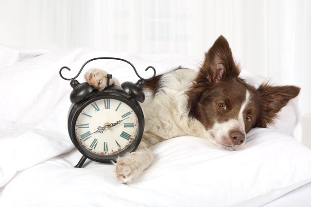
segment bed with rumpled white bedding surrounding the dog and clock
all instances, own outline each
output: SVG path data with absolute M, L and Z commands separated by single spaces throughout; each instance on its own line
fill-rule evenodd
M 311 206 L 311 150 L 292 136 L 297 99 L 275 125 L 252 129 L 240 151 L 191 136 L 156 144 L 152 165 L 125 185 L 113 164 L 87 160 L 83 168 L 73 167 L 81 154 L 68 135 L 71 87 L 59 69 L 72 69 L 64 72 L 70 78 L 91 58 L 119 57 L 149 77 L 148 66 L 157 74 L 196 69 L 203 57 L 7 45 L 0 45 L 0 57 L 1 207 Z M 87 68 L 105 69 L 120 82 L 138 80 L 120 61 L 93 61 Z M 245 69 L 241 77 L 255 87 L 265 80 Z

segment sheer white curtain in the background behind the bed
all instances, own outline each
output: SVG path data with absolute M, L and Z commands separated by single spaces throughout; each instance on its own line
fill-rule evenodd
M 311 114 L 310 0 L 0 0 L 2 43 L 202 56 L 219 35 Z

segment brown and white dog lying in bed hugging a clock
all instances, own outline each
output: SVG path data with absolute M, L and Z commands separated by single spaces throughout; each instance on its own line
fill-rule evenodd
M 86 81 L 102 90 L 104 70 L 90 69 Z M 145 129 L 135 152 L 119 157 L 115 173 L 121 183 L 135 180 L 154 160 L 152 145 L 178 136 L 207 138 L 226 150 L 240 150 L 246 133 L 273 123 L 277 112 L 296 97 L 296 86 L 262 83 L 257 89 L 239 77 L 231 49 L 222 35 L 205 53 L 199 71 L 176 69 L 146 82 L 141 108 Z M 120 85 L 117 79 L 111 84 Z

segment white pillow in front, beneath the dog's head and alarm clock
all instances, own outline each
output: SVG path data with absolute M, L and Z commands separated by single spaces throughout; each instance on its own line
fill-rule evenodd
M 118 182 L 112 164 L 73 168 L 81 157 L 73 150 L 17 173 L 1 190 L 0 205 L 249 207 L 311 181 L 311 152 L 294 138 L 269 129 L 252 130 L 248 138 L 241 151 L 190 136 L 164 141 L 152 148 L 152 166 L 130 185 Z

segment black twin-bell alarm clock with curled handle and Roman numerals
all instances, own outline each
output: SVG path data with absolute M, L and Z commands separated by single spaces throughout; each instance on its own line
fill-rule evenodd
M 140 78 L 137 83 L 124 82 L 121 86 L 109 86 L 112 75 L 107 75 L 107 87 L 97 90 L 87 82 L 80 84 L 75 78 L 79 76 L 87 63 L 98 59 L 121 60 L 132 66 Z M 75 167 L 81 168 L 86 158 L 96 162 L 111 162 L 118 157 L 134 151 L 144 131 L 144 115 L 138 102 L 143 102 L 142 91 L 145 81 L 141 78 L 133 64 L 127 60 L 114 57 L 98 57 L 88 60 L 79 73 L 70 80 L 73 88 L 70 93 L 71 106 L 68 113 L 69 137 L 74 146 L 83 155 Z

